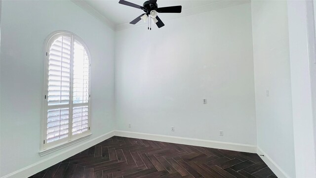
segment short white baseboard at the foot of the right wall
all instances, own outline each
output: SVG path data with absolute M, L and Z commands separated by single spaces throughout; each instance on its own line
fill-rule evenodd
M 268 167 L 273 171 L 273 173 L 278 178 L 291 178 L 288 174 L 286 174 L 277 164 L 269 157 L 267 153 L 265 153 L 261 148 L 257 147 L 257 154 L 264 155 L 260 156 L 260 158 L 268 165 Z

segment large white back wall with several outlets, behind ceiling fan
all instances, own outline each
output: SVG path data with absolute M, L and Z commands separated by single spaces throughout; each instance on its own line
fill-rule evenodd
M 256 145 L 250 4 L 163 22 L 116 33 L 117 129 Z

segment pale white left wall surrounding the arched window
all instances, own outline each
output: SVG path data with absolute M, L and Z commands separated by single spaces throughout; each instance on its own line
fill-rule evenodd
M 111 29 L 70 1 L 4 0 L 1 18 L 0 176 L 78 145 L 39 156 L 43 43 L 53 31 L 68 30 L 79 35 L 91 51 L 93 134 L 85 141 L 114 130 Z

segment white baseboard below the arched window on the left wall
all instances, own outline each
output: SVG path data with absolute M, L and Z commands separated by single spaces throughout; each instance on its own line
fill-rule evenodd
M 85 150 L 85 149 L 87 149 L 87 148 L 89 148 L 97 143 L 100 143 L 101 141 L 104 141 L 108 138 L 111 138 L 112 136 L 114 136 L 114 134 L 115 134 L 115 132 L 111 131 L 107 134 L 100 135 L 100 136 L 93 138 L 91 140 L 84 141 L 75 147 L 67 149 L 67 150 L 60 152 L 56 155 L 53 155 L 51 157 L 45 158 L 37 163 L 34 163 L 34 164 L 27 166 L 23 169 L 15 171 L 11 174 L 5 175 L 4 177 L 1 177 L 1 178 L 28 178 L 28 177 L 38 173 L 39 171 L 44 170 L 44 169 L 62 161 L 62 160 L 64 160 L 65 158 L 69 158 L 69 157 L 79 153 L 82 150 Z

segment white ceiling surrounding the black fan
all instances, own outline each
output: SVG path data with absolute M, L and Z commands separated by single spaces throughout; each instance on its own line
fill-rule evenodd
M 143 5 L 146 0 L 127 0 Z M 104 21 L 114 30 L 132 25 L 130 21 L 144 13 L 143 10 L 118 3 L 118 0 L 73 0 L 77 5 Z M 182 13 L 160 13 L 160 19 L 169 20 L 201 12 L 248 3 L 250 0 L 158 0 L 158 7 L 182 5 Z M 139 22 L 139 25 L 142 23 Z

